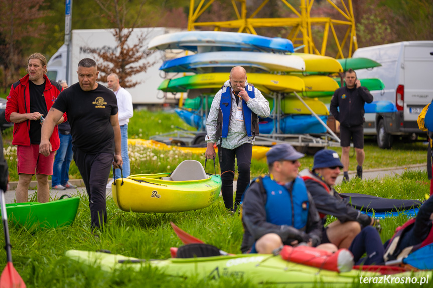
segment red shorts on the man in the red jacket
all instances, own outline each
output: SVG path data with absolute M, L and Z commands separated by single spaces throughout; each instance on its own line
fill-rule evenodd
M 44 174 L 53 175 L 54 154 L 51 152 L 48 157 L 39 153 L 39 144 L 30 146 L 17 146 L 17 168 L 18 174 Z

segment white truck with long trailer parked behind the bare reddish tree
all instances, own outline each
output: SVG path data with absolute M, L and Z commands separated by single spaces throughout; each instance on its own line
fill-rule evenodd
M 141 34 L 146 35 L 146 42 L 149 42 L 153 37 L 177 32 L 179 29 L 154 27 L 154 28 L 135 28 L 128 39 L 128 42 L 133 45 L 137 41 L 138 36 Z M 96 62 L 99 61 L 96 55 L 91 53 L 89 48 L 105 51 L 116 51 L 116 41 L 113 36 L 112 29 L 83 29 L 72 30 L 72 40 L 69 45 L 70 64 L 69 64 L 69 79 L 66 79 L 66 59 L 67 59 L 67 46 L 62 45 L 60 49 L 50 58 L 47 63 L 47 76 L 48 78 L 58 81 L 60 79 L 67 80 L 69 85 L 78 82 L 77 68 L 78 62 L 83 58 L 92 58 Z M 144 47 L 146 48 L 147 43 Z M 179 54 L 182 52 L 179 51 Z M 133 88 L 127 88 L 132 95 L 132 103 L 134 105 L 147 105 L 147 104 L 162 104 L 174 103 L 175 96 L 171 93 L 164 93 L 157 90 L 158 86 L 168 77 L 164 72 L 158 70 L 163 61 L 173 58 L 174 55 L 168 55 L 164 51 L 156 51 L 145 61 L 154 62 L 156 64 L 149 67 L 145 72 L 138 73 L 133 76 L 133 80 L 140 81 L 141 84 Z M 181 55 L 182 56 L 182 55 Z M 170 75 L 169 75 L 170 76 Z M 166 97 L 164 97 L 166 96 Z

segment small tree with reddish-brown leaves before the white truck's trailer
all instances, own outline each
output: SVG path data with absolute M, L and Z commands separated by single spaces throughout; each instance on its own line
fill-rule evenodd
M 148 67 L 156 63 L 146 61 L 151 54 L 156 52 L 155 50 L 145 50 L 144 43 L 146 43 L 146 34 L 140 34 L 133 43 L 128 41 L 139 22 L 145 2 L 141 2 L 138 10 L 134 11 L 136 15 L 131 17 L 132 13 L 130 13 L 131 10 L 126 7 L 126 0 L 95 1 L 105 12 L 103 17 L 107 18 L 115 25 L 113 36 L 117 42 L 116 52 L 90 49 L 100 60 L 97 61 L 98 69 L 102 72 L 100 80 L 106 82 L 107 76 L 114 72 L 119 76 L 122 87 L 135 87 L 141 82 L 133 81 L 131 77 L 135 74 L 146 72 Z M 126 28 L 126 22 L 129 19 L 133 19 L 133 21 L 130 22 L 130 28 Z

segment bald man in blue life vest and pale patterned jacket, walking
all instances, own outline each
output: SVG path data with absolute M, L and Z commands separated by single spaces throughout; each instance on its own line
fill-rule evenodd
M 269 102 L 253 85 L 248 84 L 246 70 L 233 67 L 230 78 L 215 95 L 206 122 L 207 159 L 215 158 L 218 145 L 221 167 L 221 193 L 226 209 L 236 211 L 242 194 L 250 182 L 254 138 L 258 135 L 258 116 L 268 117 Z M 239 177 L 233 206 L 234 163 Z

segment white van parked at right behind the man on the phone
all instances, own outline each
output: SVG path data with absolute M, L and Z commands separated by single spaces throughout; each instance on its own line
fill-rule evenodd
M 353 58 L 373 59 L 382 66 L 359 69 L 358 78 L 380 78 L 382 91 L 371 91 L 374 100 L 395 103 L 395 113 L 365 114 L 364 134 L 377 134 L 379 147 L 388 149 L 395 137 L 416 139 L 425 135 L 416 122 L 422 108 L 433 99 L 433 41 L 405 41 L 359 48 Z

